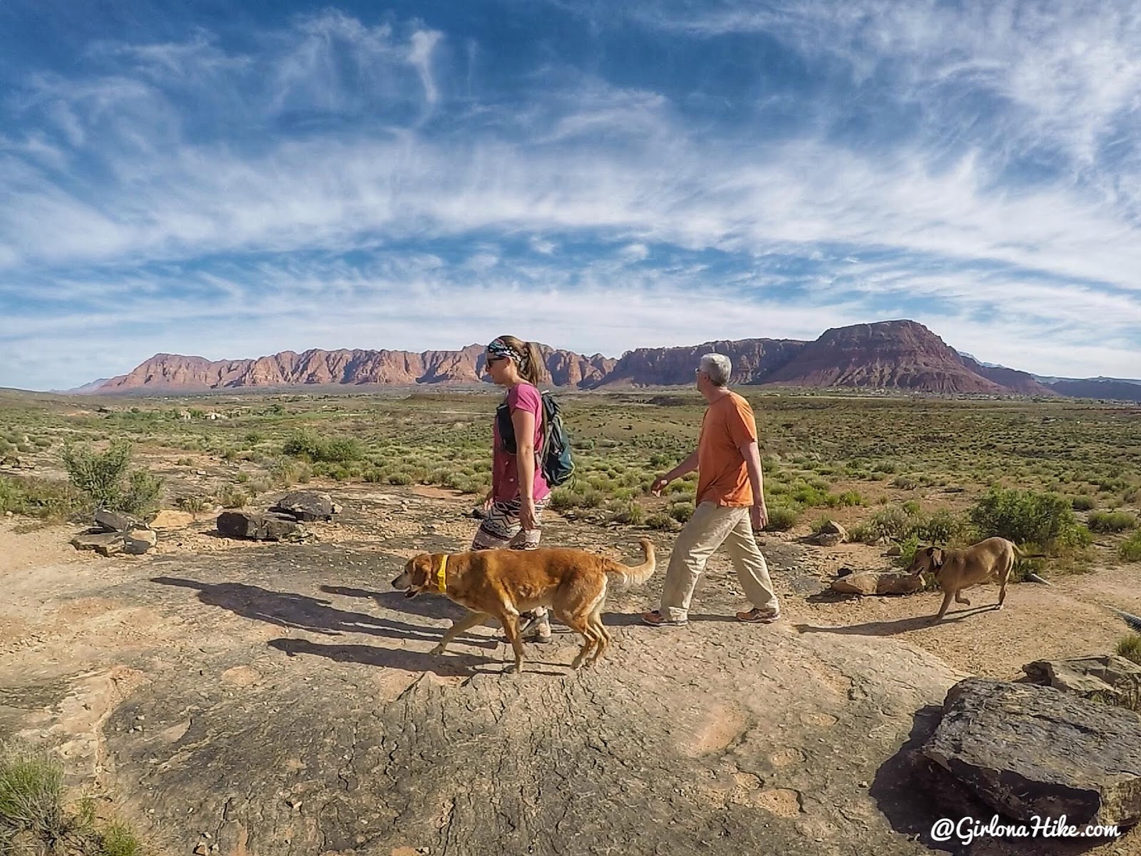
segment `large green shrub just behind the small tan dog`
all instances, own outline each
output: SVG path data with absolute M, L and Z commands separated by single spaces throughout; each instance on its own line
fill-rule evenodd
M 1070 502 L 1057 493 L 992 488 L 970 511 L 980 538 L 1001 536 L 1043 549 L 1085 546 L 1086 530 L 1074 517 Z

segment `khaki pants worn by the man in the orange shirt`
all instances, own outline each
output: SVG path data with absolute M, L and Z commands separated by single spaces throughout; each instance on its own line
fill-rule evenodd
M 665 572 L 662 589 L 662 617 L 686 620 L 697 578 L 705 570 L 709 557 L 722 543 L 729 548 L 729 557 L 748 601 L 760 609 L 778 608 L 769 567 L 753 539 L 748 509 L 702 502 L 681 530 L 670 555 L 670 568 Z

